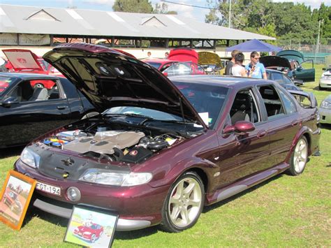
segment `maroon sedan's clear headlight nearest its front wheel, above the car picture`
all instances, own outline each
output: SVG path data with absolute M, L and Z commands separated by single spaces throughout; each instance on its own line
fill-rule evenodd
M 84 182 L 94 182 L 96 184 L 112 186 L 140 185 L 149 182 L 151 179 L 151 173 L 119 173 L 102 169 L 89 169 L 80 177 L 80 180 Z

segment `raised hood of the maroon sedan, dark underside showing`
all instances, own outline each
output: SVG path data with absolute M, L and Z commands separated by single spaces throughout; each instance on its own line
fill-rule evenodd
M 43 58 L 71 80 L 100 112 L 116 106 L 138 106 L 184 115 L 205 126 L 168 78 L 119 50 L 71 43 L 57 46 Z

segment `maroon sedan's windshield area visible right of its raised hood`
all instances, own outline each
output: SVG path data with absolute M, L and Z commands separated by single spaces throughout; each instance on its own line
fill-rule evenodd
M 174 84 L 193 105 L 205 124 L 213 128 L 223 108 L 228 88 L 191 82 L 174 82 Z

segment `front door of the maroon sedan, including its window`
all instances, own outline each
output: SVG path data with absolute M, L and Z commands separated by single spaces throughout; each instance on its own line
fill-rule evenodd
M 269 164 L 268 124 L 263 120 L 253 88 L 237 92 L 224 128 L 238 121 L 253 122 L 256 129 L 245 134 L 220 134 L 219 187 L 249 177 Z

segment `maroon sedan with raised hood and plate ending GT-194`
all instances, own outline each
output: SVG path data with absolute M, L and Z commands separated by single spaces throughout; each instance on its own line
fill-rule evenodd
M 34 206 L 70 217 L 73 205 L 119 214 L 117 231 L 190 228 L 204 205 L 287 171 L 318 152 L 314 96 L 270 80 L 166 78 L 142 61 L 96 45 L 54 48 L 45 60 L 101 115 L 31 142 L 15 163 L 38 181 Z

